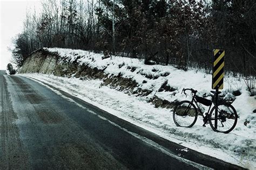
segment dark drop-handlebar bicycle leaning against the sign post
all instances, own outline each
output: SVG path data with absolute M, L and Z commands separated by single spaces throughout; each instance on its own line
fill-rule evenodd
M 212 100 L 209 100 L 197 96 L 198 91 L 193 89 L 183 89 L 181 94 L 184 93 L 187 96 L 187 90 L 191 91 L 192 100 L 180 101 L 173 110 L 173 120 L 177 126 L 192 127 L 197 121 L 199 111 L 200 115 L 203 116 L 204 127 L 206 124 L 210 124 L 213 131 L 222 133 L 229 133 L 234 129 L 238 120 L 237 111 L 229 103 L 217 103 L 216 99 L 218 99 L 218 94 L 221 92 L 211 91 L 213 93 L 211 94 Z M 205 115 L 198 103 L 209 106 Z

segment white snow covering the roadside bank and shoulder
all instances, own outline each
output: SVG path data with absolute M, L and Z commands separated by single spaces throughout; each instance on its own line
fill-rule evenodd
M 60 56 L 59 63 L 76 62 L 78 65 L 97 68 L 104 71 L 105 79 L 113 76 L 123 77 L 136 81 L 136 86 L 132 90 L 122 91 L 124 88 L 119 87 L 121 84 L 113 87 L 107 85 L 104 79 L 91 79 L 86 76 L 76 78 L 75 73 L 69 75 L 69 78 L 40 73 L 26 73 L 22 74 L 23 76 L 55 86 L 185 147 L 242 167 L 256 168 L 256 113 L 253 113 L 256 109 L 256 98 L 249 96 L 243 80 L 227 76 L 224 80 L 223 94 L 225 98 L 235 98 L 232 105 L 239 115 L 238 124 L 232 132 L 216 133 L 210 126 L 202 127 L 203 121 L 200 117 L 192 128 L 181 128 L 173 122 L 172 108 L 161 104 L 158 107 L 156 103 L 151 102 L 152 98 L 157 96 L 169 101 L 167 104 L 176 100 L 190 100 L 181 94 L 184 87 L 198 90 L 199 95 L 209 94 L 211 74 L 194 70 L 185 72 L 173 66 L 144 65 L 143 60 L 124 57 L 102 60 L 102 54 L 82 50 L 44 50 L 57 53 Z M 138 95 L 138 90 L 147 90 L 150 93 Z M 232 92 L 237 90 L 241 94 L 234 97 Z

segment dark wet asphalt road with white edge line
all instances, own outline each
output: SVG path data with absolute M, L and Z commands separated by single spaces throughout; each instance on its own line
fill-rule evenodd
M 3 74 L 0 169 L 240 169 L 181 153 L 182 146 L 63 91 Z

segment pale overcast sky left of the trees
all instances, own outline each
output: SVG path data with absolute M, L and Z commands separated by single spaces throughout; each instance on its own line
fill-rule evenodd
M 11 52 L 8 47 L 12 39 L 21 33 L 26 10 L 41 5 L 39 0 L 0 0 L 0 70 L 5 70 L 10 63 Z

